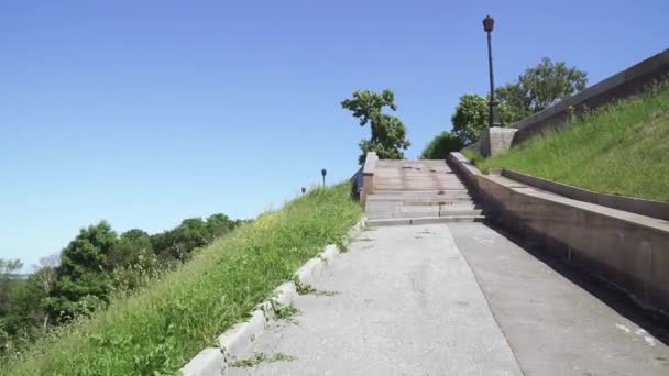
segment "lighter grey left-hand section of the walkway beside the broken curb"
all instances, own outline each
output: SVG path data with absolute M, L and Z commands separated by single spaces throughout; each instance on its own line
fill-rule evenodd
M 230 375 L 520 374 L 446 225 L 365 231 L 314 287 L 252 349 L 295 360 Z

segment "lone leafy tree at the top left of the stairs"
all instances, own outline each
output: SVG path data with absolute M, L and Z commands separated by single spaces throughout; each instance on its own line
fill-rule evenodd
M 397 110 L 393 91 L 385 89 L 382 93 L 376 93 L 372 90 L 358 90 L 352 98 L 344 99 L 341 107 L 360 119 L 360 126 L 370 123 L 370 140 L 360 142 L 362 154 L 358 162 L 361 165 L 368 152 L 376 152 L 382 159 L 404 158 L 403 151 L 410 146 L 406 140 L 406 128 L 397 117 L 383 113 L 384 108 Z

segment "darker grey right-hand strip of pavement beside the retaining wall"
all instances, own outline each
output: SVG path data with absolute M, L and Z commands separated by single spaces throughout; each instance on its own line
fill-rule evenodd
M 621 294 L 484 224 L 449 226 L 526 375 L 669 375 L 667 329 Z

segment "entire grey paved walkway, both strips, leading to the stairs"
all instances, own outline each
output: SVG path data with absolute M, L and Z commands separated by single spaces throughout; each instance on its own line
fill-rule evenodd
M 227 375 L 668 375 L 665 332 L 584 286 L 481 223 L 379 228 Z

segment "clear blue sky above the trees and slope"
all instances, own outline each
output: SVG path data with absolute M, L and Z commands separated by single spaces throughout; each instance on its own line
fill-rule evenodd
M 0 257 L 28 265 L 79 228 L 157 232 L 251 218 L 369 134 L 339 102 L 391 88 L 416 157 L 464 92 L 541 56 L 590 82 L 669 47 L 656 1 L 4 1 Z

